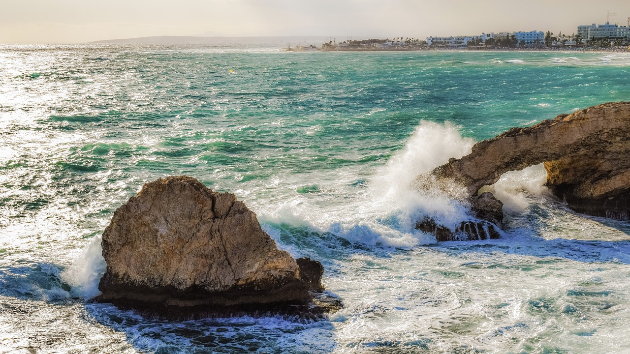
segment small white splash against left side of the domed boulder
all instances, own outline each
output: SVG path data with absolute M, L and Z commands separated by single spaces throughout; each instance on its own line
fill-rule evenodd
M 61 273 L 61 278 L 72 287 L 71 295 L 91 299 L 100 295 L 98 282 L 105 273 L 105 259 L 101 249 L 101 236 L 95 236 Z

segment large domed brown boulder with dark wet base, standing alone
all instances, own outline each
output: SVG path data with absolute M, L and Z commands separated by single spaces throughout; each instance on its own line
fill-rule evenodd
M 118 208 L 103 232 L 98 300 L 166 312 L 312 307 L 323 267 L 298 263 L 231 193 L 187 176 L 160 179 Z M 306 277 L 306 278 L 305 278 Z M 309 305 L 310 304 L 310 305 Z

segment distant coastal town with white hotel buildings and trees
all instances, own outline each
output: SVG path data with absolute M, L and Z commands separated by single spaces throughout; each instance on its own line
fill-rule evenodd
M 386 38 L 368 40 L 345 40 L 336 42 L 331 39 L 321 47 L 314 45 L 295 45 L 284 50 L 292 52 L 306 51 L 374 51 L 374 50 L 612 50 L 630 52 L 630 17 L 627 26 L 610 24 L 580 25 L 577 33 L 558 33 L 551 31 L 516 31 L 499 33 L 481 33 L 480 35 Z

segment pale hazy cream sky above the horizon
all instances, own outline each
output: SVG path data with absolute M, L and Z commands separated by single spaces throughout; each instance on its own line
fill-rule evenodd
M 0 0 L 0 43 L 159 35 L 416 37 L 627 25 L 630 0 Z

